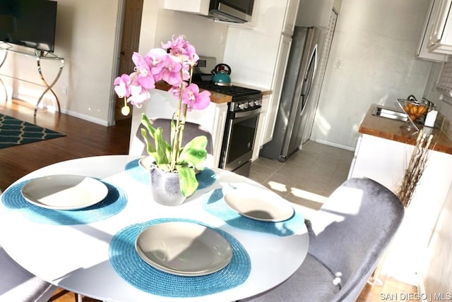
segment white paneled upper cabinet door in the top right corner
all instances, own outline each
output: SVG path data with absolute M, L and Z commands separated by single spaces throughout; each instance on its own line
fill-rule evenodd
M 437 3 L 436 3 L 437 2 Z M 429 40 L 429 51 L 452 54 L 452 0 L 435 0 L 432 11 L 432 32 Z

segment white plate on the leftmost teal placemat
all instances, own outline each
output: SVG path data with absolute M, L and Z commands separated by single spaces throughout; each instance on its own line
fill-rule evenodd
M 87 176 L 61 174 L 42 176 L 25 183 L 23 198 L 52 210 L 77 210 L 102 201 L 108 193 L 105 183 Z

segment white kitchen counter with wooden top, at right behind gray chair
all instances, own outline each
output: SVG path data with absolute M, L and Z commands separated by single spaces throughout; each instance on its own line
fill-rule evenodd
M 369 177 L 396 193 L 410 162 L 417 133 L 400 128 L 406 122 L 373 116 L 374 106 L 359 126 L 349 177 Z M 446 172 L 452 169 L 452 141 L 439 128 L 431 130 L 434 139 L 427 167 L 384 262 L 388 275 L 415 285 L 420 284 L 426 270 L 427 247 L 444 203 L 452 195 L 452 174 Z

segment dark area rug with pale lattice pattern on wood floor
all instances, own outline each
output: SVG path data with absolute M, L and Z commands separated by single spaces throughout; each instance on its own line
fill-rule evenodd
M 0 149 L 62 136 L 66 135 L 0 114 Z

